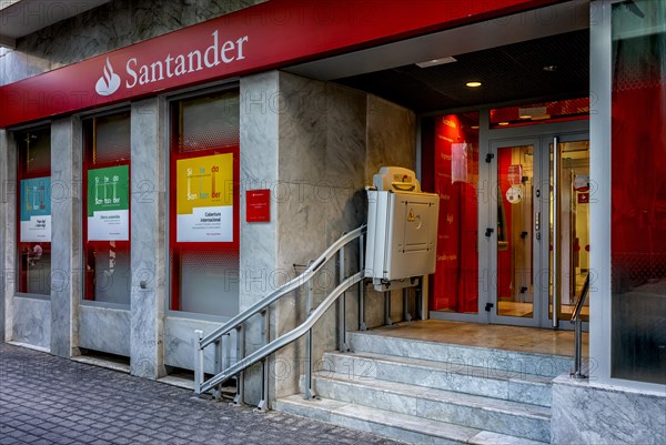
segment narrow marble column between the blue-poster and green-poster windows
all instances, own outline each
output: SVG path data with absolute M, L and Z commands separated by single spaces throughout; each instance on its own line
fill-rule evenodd
M 78 354 L 81 299 L 81 123 L 51 124 L 51 353 Z

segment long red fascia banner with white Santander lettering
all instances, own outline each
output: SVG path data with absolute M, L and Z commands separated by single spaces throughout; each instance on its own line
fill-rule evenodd
M 0 128 L 549 3 L 556 0 L 272 0 L 4 85 Z

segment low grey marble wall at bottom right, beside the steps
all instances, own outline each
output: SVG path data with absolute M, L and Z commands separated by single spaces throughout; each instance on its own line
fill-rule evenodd
M 551 424 L 551 442 L 557 445 L 664 444 L 666 392 L 561 376 L 553 384 Z

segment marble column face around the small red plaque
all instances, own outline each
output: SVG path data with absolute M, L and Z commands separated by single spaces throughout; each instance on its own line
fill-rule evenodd
M 241 252 L 240 310 L 252 305 L 272 291 L 271 280 L 278 256 L 278 72 L 271 71 L 241 79 Z M 246 190 L 271 190 L 271 222 L 245 222 Z M 245 323 L 246 351 L 258 348 L 261 317 Z M 261 375 L 245 373 L 245 402 L 256 404 L 261 397 Z

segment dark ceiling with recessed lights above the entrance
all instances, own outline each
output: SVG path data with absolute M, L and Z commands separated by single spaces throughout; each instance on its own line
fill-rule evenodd
M 589 94 L 589 30 L 578 30 L 464 54 L 430 68 L 406 64 L 336 79 L 418 113 L 518 104 Z M 555 71 L 544 67 L 556 65 Z M 477 80 L 480 88 L 465 83 Z

